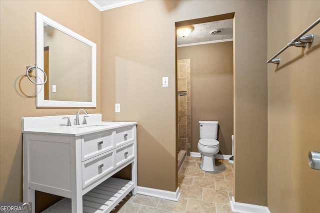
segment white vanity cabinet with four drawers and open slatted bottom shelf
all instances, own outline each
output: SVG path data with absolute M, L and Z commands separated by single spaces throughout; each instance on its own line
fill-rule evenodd
M 23 201 L 33 212 L 35 190 L 64 197 L 50 213 L 108 213 L 136 194 L 135 122 L 32 130 L 23 119 Z M 131 180 L 111 178 L 129 164 Z

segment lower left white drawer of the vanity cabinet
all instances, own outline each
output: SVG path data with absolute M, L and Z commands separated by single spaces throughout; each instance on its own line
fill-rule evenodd
M 82 162 L 82 188 L 87 187 L 114 168 L 114 151 Z

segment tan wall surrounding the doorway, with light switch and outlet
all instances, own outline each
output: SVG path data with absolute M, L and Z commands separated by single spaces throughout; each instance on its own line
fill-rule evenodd
M 266 205 L 266 7 L 251 0 L 156 0 L 101 12 L 101 112 L 104 120 L 138 122 L 139 186 L 177 187 L 174 23 L 235 12 L 234 196 Z

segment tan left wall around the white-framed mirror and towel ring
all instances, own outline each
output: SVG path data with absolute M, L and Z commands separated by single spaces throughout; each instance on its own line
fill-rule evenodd
M 35 63 L 35 11 L 95 42 L 97 79 L 100 76 L 100 12 L 88 1 L 0 0 L 1 202 L 22 201 L 21 117 L 68 115 L 77 112 L 77 109 L 35 108 L 35 86 L 24 77 L 26 65 Z M 88 109 L 89 113 L 100 112 L 99 91 L 98 81 L 97 107 Z M 41 201 L 37 201 L 37 205 L 41 205 Z

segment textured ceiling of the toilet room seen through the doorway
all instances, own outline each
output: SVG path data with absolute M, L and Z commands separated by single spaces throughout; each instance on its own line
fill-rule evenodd
M 233 38 L 233 19 L 225 19 L 206 23 L 193 24 L 193 31 L 186 37 L 177 36 L 177 45 L 210 42 Z M 220 33 L 211 35 L 213 29 L 223 29 Z

